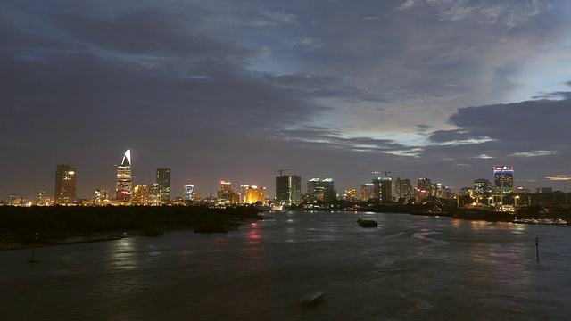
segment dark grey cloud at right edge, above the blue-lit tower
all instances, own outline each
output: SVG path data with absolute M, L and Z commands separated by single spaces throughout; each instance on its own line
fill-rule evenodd
M 567 152 L 571 100 L 539 100 L 459 108 L 449 123 L 454 130 L 433 132 L 438 144 L 455 144 L 452 154 L 494 155 L 517 159 L 546 152 Z M 548 153 L 549 154 L 549 153 Z

